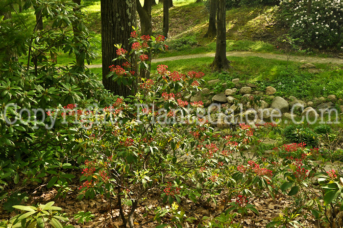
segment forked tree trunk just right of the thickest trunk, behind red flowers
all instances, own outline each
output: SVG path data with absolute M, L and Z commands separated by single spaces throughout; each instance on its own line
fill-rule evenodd
M 152 6 L 152 1 L 154 0 L 145 0 L 144 1 L 144 6 L 142 7 L 141 3 L 139 0 L 136 0 L 137 4 L 137 12 L 141 21 L 141 31 L 142 35 L 152 35 L 152 25 L 151 25 L 151 6 Z M 155 1 L 154 1 L 155 2 Z M 151 61 L 152 56 L 151 54 L 148 54 L 148 59 L 147 61 Z M 149 64 L 149 68 L 150 68 Z M 139 71 L 139 76 L 144 77 L 144 78 L 149 78 L 150 77 L 150 69 L 140 69 Z

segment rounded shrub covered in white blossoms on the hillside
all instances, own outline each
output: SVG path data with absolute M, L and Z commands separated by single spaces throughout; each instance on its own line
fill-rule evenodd
M 343 49 L 343 0 L 281 0 L 280 8 L 301 46 Z

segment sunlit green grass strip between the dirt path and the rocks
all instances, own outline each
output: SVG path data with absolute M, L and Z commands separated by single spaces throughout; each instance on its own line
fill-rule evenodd
M 323 72 L 314 75 L 299 69 L 301 63 L 259 57 L 229 57 L 232 68 L 225 74 L 212 73 L 210 63 L 213 57 L 181 59 L 152 64 L 152 72 L 156 66 L 165 64 L 171 71 L 201 71 L 206 81 L 221 79 L 228 83 L 232 78 L 240 78 L 243 83 L 254 83 L 261 90 L 267 86 L 277 89 L 277 96 L 295 96 L 298 99 L 311 100 L 314 97 L 326 97 L 330 94 L 343 98 L 343 67 L 318 64 Z M 325 88 L 324 88 L 325 87 Z M 222 91 L 224 88 L 222 88 Z

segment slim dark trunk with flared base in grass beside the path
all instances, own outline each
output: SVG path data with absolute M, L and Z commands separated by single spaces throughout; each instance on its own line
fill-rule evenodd
M 216 56 L 211 64 L 215 71 L 226 70 L 230 68 L 230 62 L 226 58 L 226 7 L 225 0 L 218 1 L 217 10 L 217 46 Z

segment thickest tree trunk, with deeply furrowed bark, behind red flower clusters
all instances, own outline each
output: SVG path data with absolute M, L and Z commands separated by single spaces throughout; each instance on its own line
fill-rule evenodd
M 122 65 L 125 61 L 117 60 L 114 44 L 122 44 L 122 47 L 131 51 L 128 39 L 136 26 L 136 0 L 101 0 L 101 43 L 102 43 L 102 84 L 105 89 L 116 95 L 127 97 L 136 90 L 137 84 L 129 88 L 118 84 L 112 78 L 106 78 L 109 73 L 109 66 Z M 133 64 L 135 58 L 130 60 Z

